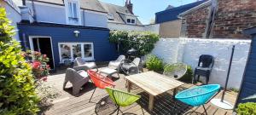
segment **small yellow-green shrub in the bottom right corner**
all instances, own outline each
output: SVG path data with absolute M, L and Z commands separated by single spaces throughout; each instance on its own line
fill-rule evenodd
M 238 115 L 256 115 L 256 103 L 247 102 L 239 104 L 236 111 Z

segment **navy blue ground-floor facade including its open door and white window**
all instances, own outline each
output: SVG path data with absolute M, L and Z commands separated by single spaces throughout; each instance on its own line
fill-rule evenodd
M 46 23 L 19 25 L 22 45 L 47 54 L 51 66 L 57 67 L 65 60 L 82 57 L 84 60 L 107 61 L 116 56 L 115 47 L 109 43 L 109 30 L 100 27 L 66 26 Z M 76 36 L 74 32 L 79 32 Z

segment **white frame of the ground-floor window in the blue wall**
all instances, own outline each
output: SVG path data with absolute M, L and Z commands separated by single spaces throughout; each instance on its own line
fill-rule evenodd
M 73 58 L 73 45 L 77 45 L 77 44 L 81 45 L 81 55 L 82 55 L 83 60 L 94 60 L 94 45 L 93 45 L 93 43 L 58 43 L 60 63 L 64 63 L 64 60 L 62 60 L 62 57 L 61 57 L 61 44 L 65 44 L 65 45 L 67 45 L 71 48 L 70 49 L 71 59 L 69 59 L 71 61 L 74 60 L 74 58 Z M 90 44 L 91 45 L 91 57 L 86 57 L 86 58 L 84 57 L 84 44 Z

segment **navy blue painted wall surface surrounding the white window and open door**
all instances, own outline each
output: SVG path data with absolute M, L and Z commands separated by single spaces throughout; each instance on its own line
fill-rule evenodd
M 93 43 L 94 58 L 96 61 L 108 61 L 117 57 L 114 44 L 109 43 L 109 30 L 107 28 L 81 27 L 81 26 L 51 26 L 37 24 L 19 24 L 20 37 L 26 34 L 26 44 L 29 46 L 29 36 L 51 37 L 54 50 L 55 66 L 59 65 L 58 43 Z M 74 31 L 80 32 L 79 37 L 74 36 Z M 21 43 L 24 45 L 24 43 Z M 50 44 L 46 44 L 50 45 Z

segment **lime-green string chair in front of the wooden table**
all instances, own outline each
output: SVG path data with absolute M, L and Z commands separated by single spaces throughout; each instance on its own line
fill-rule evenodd
M 133 104 L 134 102 L 136 102 L 137 100 L 139 100 L 141 98 L 140 95 L 131 94 L 131 93 L 121 91 L 118 89 L 113 89 L 113 88 L 107 87 L 106 91 L 108 92 L 108 95 L 110 96 L 110 98 L 118 106 L 117 114 L 119 114 L 120 106 L 130 106 L 131 104 Z

